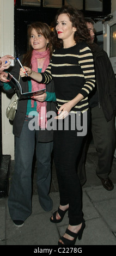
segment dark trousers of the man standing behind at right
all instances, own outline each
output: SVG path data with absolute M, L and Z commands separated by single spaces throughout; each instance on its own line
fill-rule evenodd
M 102 107 L 91 109 L 91 131 L 98 155 L 96 174 L 107 178 L 111 172 L 115 149 L 115 120 L 106 121 Z

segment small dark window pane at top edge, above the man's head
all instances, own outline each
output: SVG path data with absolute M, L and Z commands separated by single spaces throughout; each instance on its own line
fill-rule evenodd
M 102 11 L 103 0 L 86 0 L 87 11 Z

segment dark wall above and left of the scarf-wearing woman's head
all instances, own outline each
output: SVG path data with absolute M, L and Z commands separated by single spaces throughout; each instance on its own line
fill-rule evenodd
M 15 7 L 15 51 L 19 56 L 27 51 L 27 27 L 34 21 L 42 21 L 51 25 L 57 9 L 55 8 L 27 8 Z

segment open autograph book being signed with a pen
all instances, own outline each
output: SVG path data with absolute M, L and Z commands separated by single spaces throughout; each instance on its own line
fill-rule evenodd
M 45 89 L 40 89 L 40 90 L 37 90 L 35 92 L 27 92 L 27 93 L 23 93 L 22 92 L 22 88 L 21 88 L 21 85 L 20 83 L 16 80 L 16 78 L 14 76 L 12 76 L 10 73 L 8 73 L 8 80 L 10 81 L 9 82 L 9 85 L 11 86 L 11 88 L 15 89 L 16 90 L 16 93 L 17 95 L 20 97 L 22 96 L 25 96 L 25 97 L 32 97 L 32 96 L 37 96 L 37 95 L 41 95 L 45 92 Z

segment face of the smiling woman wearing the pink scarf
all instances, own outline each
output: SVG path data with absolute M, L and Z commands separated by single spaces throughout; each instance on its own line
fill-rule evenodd
M 38 34 L 38 32 L 36 32 L 33 28 L 30 35 L 30 45 L 32 48 L 38 52 L 44 52 L 46 51 L 47 43 L 48 40 L 44 37 L 44 35 Z

